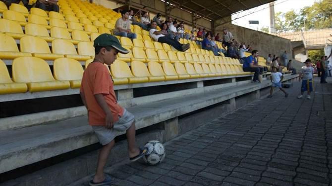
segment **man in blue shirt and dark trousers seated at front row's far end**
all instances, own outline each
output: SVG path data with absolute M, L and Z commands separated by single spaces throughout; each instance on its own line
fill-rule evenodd
M 243 63 L 243 71 L 244 72 L 255 72 L 254 74 L 254 82 L 260 82 L 258 80 L 258 76 L 261 72 L 261 66 L 257 65 L 256 63 L 256 58 L 258 57 L 258 51 L 257 50 L 253 50 L 251 52 L 251 56 L 248 56 Z

